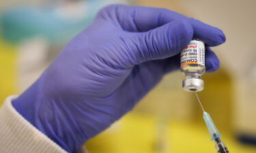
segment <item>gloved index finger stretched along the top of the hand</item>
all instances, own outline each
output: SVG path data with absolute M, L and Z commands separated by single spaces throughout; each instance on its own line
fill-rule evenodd
M 193 26 L 194 38 L 201 39 L 208 46 L 225 42 L 225 35 L 220 29 L 164 8 L 109 5 L 99 12 L 98 18 L 111 20 L 117 27 L 131 32 L 150 31 L 174 20 L 187 20 Z

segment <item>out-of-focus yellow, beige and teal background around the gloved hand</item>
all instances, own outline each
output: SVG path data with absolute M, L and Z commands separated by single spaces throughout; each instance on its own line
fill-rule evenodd
M 0 101 L 19 95 L 109 3 L 165 7 L 223 29 L 221 68 L 205 73 L 199 97 L 229 151 L 256 152 L 255 0 L 0 1 Z M 166 75 L 132 112 L 86 144 L 90 153 L 216 152 L 180 71 Z

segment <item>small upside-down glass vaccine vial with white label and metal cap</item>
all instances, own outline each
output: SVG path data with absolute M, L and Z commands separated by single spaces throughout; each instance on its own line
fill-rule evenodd
M 199 39 L 193 39 L 182 50 L 180 55 L 180 69 L 185 75 L 182 88 L 186 91 L 203 90 L 201 75 L 205 72 L 205 45 Z

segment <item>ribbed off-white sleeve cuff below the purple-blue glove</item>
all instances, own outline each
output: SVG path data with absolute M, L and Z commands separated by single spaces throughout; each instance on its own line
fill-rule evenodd
M 0 152 L 1 153 L 66 153 L 54 141 L 36 129 L 12 106 L 12 99 L 8 97 L 0 107 Z

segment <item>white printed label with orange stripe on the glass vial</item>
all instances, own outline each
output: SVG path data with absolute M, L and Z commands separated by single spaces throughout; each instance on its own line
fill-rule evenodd
M 198 64 L 205 66 L 205 46 L 203 41 L 192 40 L 180 54 L 180 66 Z

